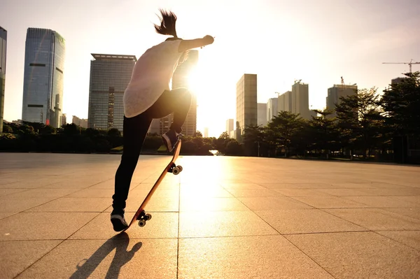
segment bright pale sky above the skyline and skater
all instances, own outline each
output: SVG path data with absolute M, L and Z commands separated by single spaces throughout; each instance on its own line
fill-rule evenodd
M 22 118 L 27 28 L 57 31 L 66 41 L 63 113 L 87 118 L 91 53 L 136 55 L 165 36 L 156 34 L 158 9 L 176 13 L 184 39 L 215 37 L 200 49 L 191 76 L 197 129 L 225 131 L 236 115 L 236 83 L 258 75 L 258 102 L 309 84 L 309 106 L 325 107 L 328 87 L 377 87 L 420 62 L 418 0 L 1 0 L 8 31 L 4 119 Z M 413 65 L 420 71 L 420 65 Z

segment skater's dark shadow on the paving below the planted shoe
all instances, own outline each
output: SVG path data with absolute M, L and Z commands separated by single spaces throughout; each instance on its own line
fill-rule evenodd
M 113 257 L 111 266 L 106 273 L 105 278 L 118 278 L 120 274 L 121 267 L 127 262 L 130 262 L 134 254 L 141 248 L 142 243 L 136 243 L 131 251 L 127 251 L 128 243 L 130 243 L 130 238 L 126 233 L 118 234 L 109 238 L 101 247 L 99 247 L 96 252 L 90 256 L 89 259 L 83 259 L 80 262 L 85 261 L 80 265 L 80 262 L 76 266 L 77 270 L 73 273 L 70 278 L 88 278 L 92 272 L 101 264 L 102 260 L 109 255 L 112 250 L 116 248 L 116 255 Z

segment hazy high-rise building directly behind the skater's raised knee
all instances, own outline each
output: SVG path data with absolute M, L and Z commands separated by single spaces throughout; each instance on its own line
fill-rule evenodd
M 181 58 L 182 59 L 182 58 Z M 181 63 L 176 67 L 176 71 L 172 76 L 172 89 L 186 87 L 189 88 L 188 78 L 190 72 L 198 63 L 198 50 L 190 50 L 186 61 Z M 186 121 L 182 127 L 182 134 L 185 136 L 194 136 L 197 131 L 197 95 L 195 92 L 191 92 L 193 99 L 191 100 L 190 110 L 186 117 Z M 174 114 L 171 113 L 160 119 L 154 119 L 152 121 L 151 127 L 149 128 L 149 133 L 151 134 L 164 134 L 171 127 L 172 121 L 174 120 Z

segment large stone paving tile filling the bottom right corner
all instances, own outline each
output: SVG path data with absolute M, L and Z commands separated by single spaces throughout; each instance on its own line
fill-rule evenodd
M 419 278 L 420 252 L 374 232 L 285 236 L 334 278 Z

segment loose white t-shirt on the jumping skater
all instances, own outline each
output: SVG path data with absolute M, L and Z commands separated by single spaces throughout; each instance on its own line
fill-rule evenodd
M 150 108 L 169 89 L 178 60 L 181 40 L 164 41 L 149 48 L 134 65 L 132 78 L 124 92 L 124 115 L 134 117 Z

